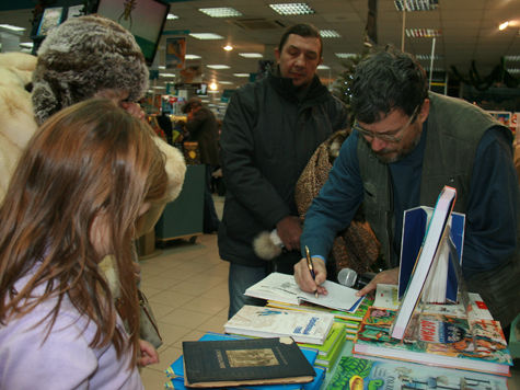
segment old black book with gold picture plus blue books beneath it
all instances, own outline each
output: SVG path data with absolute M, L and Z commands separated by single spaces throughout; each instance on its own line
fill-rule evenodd
M 208 332 L 198 342 L 184 342 L 183 352 L 165 370 L 166 389 L 317 390 L 325 378 L 325 369 L 313 366 L 317 352 L 290 339 Z

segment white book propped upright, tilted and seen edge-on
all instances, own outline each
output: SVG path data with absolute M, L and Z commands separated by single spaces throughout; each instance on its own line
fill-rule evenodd
M 448 220 L 457 197 L 455 188 L 444 186 L 437 199 L 434 215 L 428 223 L 423 245 L 411 275 L 406 290 L 401 299 L 400 308 L 390 331 L 392 337 L 403 339 L 420 296 L 425 288 L 428 274 L 438 255 L 438 250 L 448 231 Z

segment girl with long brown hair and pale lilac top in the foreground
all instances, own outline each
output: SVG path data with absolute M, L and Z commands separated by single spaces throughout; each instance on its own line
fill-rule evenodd
M 1 389 L 143 389 L 130 243 L 166 186 L 152 129 L 109 100 L 34 135 L 0 206 Z M 129 334 L 99 267 L 108 254 Z

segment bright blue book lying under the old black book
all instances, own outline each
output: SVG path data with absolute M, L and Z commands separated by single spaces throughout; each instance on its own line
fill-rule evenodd
M 240 336 L 240 335 L 230 335 L 215 332 L 207 332 L 204 334 L 199 341 L 229 341 L 229 340 L 246 340 L 250 337 Z M 317 351 L 314 348 L 301 347 L 300 349 L 309 362 L 310 365 L 314 365 L 317 356 Z M 239 386 L 233 387 L 235 389 L 253 389 L 253 390 L 317 390 L 321 388 L 325 372 L 324 368 L 313 366 L 315 376 L 311 382 L 305 383 L 273 383 L 273 385 L 249 385 L 249 386 Z M 173 362 L 166 369 L 165 374 L 169 380 L 165 382 L 166 389 L 177 389 L 185 390 L 185 374 L 184 374 L 184 356 L 181 355 L 175 362 Z

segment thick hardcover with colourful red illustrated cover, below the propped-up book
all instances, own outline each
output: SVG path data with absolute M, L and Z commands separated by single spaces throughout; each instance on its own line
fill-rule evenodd
M 441 313 L 420 313 L 403 341 L 391 336 L 395 311 L 371 308 L 358 331 L 353 353 L 368 358 L 391 358 L 447 368 L 509 375 L 512 365 L 497 321 Z M 413 334 L 413 336 L 411 336 Z

